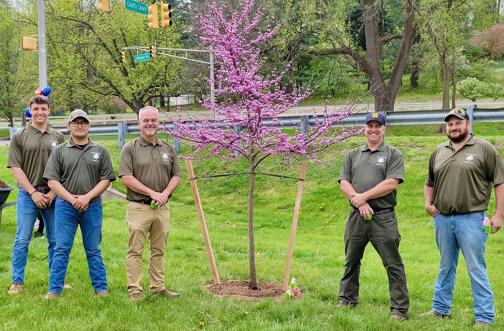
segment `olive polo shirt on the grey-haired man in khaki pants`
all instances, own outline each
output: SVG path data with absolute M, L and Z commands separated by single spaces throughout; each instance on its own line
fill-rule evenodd
M 122 147 L 118 177 L 124 175 L 135 177 L 156 192 L 163 192 L 172 177 L 182 176 L 175 148 L 160 139 L 153 145 L 142 136 L 130 140 Z M 127 189 L 126 199 L 146 203 L 152 200 L 130 188 Z

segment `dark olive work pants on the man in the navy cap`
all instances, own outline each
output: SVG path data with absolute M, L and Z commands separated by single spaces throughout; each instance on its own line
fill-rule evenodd
M 389 278 L 390 310 L 406 316 L 409 294 L 406 288 L 404 264 L 399 254 L 399 229 L 394 211 L 364 219 L 352 210 L 345 225 L 345 271 L 340 282 L 340 303 L 357 305 L 359 298 L 360 261 L 370 241 L 382 258 Z

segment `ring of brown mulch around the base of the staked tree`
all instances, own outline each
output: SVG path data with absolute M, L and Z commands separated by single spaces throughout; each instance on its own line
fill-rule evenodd
M 261 290 L 249 290 L 248 281 L 230 280 L 220 284 L 208 284 L 203 288 L 218 297 L 226 295 L 247 301 L 259 301 L 261 298 L 272 298 L 277 302 L 285 300 L 282 285 L 262 282 L 258 282 L 258 285 Z

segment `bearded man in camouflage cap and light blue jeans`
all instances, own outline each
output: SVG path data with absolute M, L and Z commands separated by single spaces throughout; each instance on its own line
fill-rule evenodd
M 450 140 L 439 144 L 429 160 L 425 179 L 425 210 L 433 216 L 434 236 L 440 253 L 439 274 L 434 283 L 432 310 L 419 317 L 450 315 L 455 275 L 462 251 L 471 278 L 475 327 L 493 323 L 493 292 L 486 273 L 483 226 L 488 201 L 495 188 L 492 233 L 502 227 L 504 215 L 504 164 L 495 147 L 469 133 L 471 122 L 463 109 L 445 118 Z

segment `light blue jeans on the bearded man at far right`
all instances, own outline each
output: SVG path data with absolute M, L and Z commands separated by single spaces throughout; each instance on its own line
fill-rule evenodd
M 434 216 L 434 234 L 441 259 L 439 274 L 434 283 L 432 309 L 444 315 L 450 314 L 460 249 L 471 278 L 476 320 L 491 324 L 495 307 L 486 273 L 485 247 L 488 233 L 483 227 L 484 217 L 484 211 L 464 215 Z

